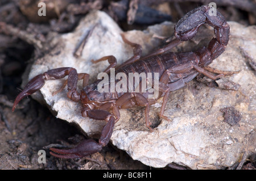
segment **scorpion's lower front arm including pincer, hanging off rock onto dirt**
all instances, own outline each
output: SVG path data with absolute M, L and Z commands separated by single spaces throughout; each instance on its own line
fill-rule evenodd
M 101 151 L 102 147 L 108 144 L 110 137 L 112 136 L 115 124 L 114 116 L 110 115 L 106 119 L 108 119 L 108 123 L 103 127 L 98 143 L 91 139 L 84 140 L 73 149 L 63 150 L 50 148 L 50 154 L 58 158 L 82 158 L 86 155 Z

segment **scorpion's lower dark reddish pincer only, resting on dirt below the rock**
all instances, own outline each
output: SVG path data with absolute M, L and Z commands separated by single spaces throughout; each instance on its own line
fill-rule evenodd
M 62 150 L 50 148 L 50 154 L 58 158 L 82 158 L 86 155 L 97 153 L 102 146 L 94 140 L 84 140 L 75 148 Z

